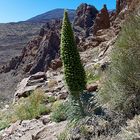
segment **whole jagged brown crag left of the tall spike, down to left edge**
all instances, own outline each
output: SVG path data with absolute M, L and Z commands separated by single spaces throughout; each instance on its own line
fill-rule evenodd
M 15 70 L 16 74 L 35 74 L 39 71 L 47 71 L 51 61 L 59 57 L 60 27 L 59 20 L 46 23 L 38 37 L 29 41 L 21 55 L 2 66 L 0 72 Z

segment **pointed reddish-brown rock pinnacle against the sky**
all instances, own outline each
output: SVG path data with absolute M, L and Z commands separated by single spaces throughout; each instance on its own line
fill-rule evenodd
M 98 30 L 108 29 L 109 27 L 110 27 L 109 12 L 107 10 L 106 5 L 104 5 L 101 11 L 97 14 L 97 17 L 95 19 L 93 33 L 95 35 Z

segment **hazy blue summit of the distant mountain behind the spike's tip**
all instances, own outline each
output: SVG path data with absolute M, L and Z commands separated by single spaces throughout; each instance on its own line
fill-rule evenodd
M 64 13 L 64 9 L 58 8 L 58 9 L 54 9 L 54 10 L 48 11 L 46 13 L 37 15 L 31 19 L 28 19 L 26 22 L 46 22 L 46 21 L 50 21 L 52 19 L 62 19 L 63 13 Z M 69 13 L 69 18 L 72 21 L 75 16 L 75 10 L 68 9 L 68 13 Z

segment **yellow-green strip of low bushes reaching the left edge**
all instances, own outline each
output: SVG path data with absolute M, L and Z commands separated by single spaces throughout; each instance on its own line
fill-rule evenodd
M 20 99 L 0 112 L 0 130 L 8 127 L 17 120 L 26 120 L 39 117 L 50 112 L 45 103 L 45 94 L 40 90 L 34 91 L 29 97 Z

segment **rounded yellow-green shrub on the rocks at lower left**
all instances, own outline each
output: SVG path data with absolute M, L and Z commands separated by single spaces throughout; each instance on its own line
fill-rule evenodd
M 45 95 L 41 91 L 35 91 L 27 99 L 21 99 L 15 107 L 15 114 L 18 119 L 33 119 L 41 114 L 49 113 L 50 109 L 43 103 Z

